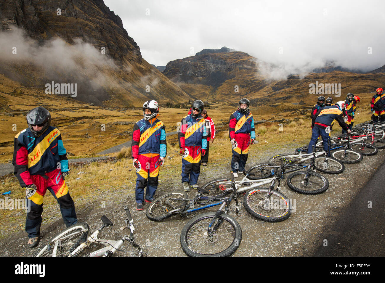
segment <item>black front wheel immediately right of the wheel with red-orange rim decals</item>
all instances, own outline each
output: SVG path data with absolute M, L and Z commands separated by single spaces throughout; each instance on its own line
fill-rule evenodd
M 290 189 L 300 194 L 320 194 L 329 188 L 329 181 L 315 172 L 306 171 L 290 174 L 286 180 Z

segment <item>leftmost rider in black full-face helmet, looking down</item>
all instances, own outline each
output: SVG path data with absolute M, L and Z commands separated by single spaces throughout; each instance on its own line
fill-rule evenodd
M 50 126 L 51 114 L 44 107 L 33 108 L 27 114 L 28 128 L 15 136 L 13 174 L 27 194 L 28 247 L 40 241 L 43 198 L 47 189 L 60 206 L 67 227 L 77 223 L 75 204 L 65 184 L 69 174 L 67 152 L 59 129 Z

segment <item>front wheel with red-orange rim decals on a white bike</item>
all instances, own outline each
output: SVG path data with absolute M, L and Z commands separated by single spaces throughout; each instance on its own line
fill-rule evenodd
M 249 190 L 243 197 L 243 205 L 254 217 L 266 222 L 280 222 L 291 214 L 290 200 L 284 194 L 268 188 Z

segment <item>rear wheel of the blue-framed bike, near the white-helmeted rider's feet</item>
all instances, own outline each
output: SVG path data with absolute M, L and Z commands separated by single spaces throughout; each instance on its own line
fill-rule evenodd
M 172 214 L 181 212 L 187 204 L 188 196 L 185 192 L 171 192 L 164 194 L 153 201 L 146 211 L 146 216 L 152 221 L 162 221 Z M 170 212 L 175 210 L 174 212 Z

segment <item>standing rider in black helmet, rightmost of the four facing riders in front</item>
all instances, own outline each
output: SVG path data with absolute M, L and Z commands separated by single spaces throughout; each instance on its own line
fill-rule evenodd
M 239 100 L 238 110 L 231 114 L 229 119 L 229 138 L 233 148 L 231 171 L 235 178 L 238 177 L 238 172 L 243 172 L 249 146 L 255 141 L 254 118 L 249 106 L 248 99 Z

